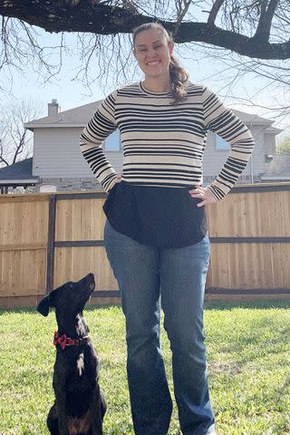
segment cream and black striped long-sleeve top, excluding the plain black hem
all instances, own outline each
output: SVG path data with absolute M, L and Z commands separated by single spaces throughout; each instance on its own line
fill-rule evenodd
M 201 84 L 188 84 L 188 97 L 172 104 L 169 92 L 149 92 L 141 82 L 112 92 L 82 131 L 81 150 L 102 187 L 109 191 L 117 174 L 102 141 L 119 129 L 122 180 L 138 186 L 182 188 L 202 182 L 207 131 L 231 146 L 227 161 L 208 188 L 224 198 L 245 169 L 254 140 L 245 124 Z

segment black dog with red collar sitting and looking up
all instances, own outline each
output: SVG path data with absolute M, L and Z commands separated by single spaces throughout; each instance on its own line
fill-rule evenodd
M 58 325 L 53 342 L 55 401 L 47 416 L 52 435 L 102 435 L 106 403 L 98 384 L 97 354 L 82 317 L 94 287 L 94 276 L 89 274 L 53 290 L 37 306 L 45 316 L 53 307 Z

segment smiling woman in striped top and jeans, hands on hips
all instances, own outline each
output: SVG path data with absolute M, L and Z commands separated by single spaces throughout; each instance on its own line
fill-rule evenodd
M 242 121 L 173 56 L 160 24 L 133 35 L 145 75 L 112 92 L 82 132 L 82 154 L 103 188 L 107 256 L 126 317 L 127 372 L 137 435 L 165 435 L 172 401 L 160 353 L 160 300 L 172 351 L 174 393 L 184 435 L 214 434 L 203 335 L 208 271 L 207 204 L 224 198 L 246 167 L 254 141 Z M 117 175 L 102 140 L 121 131 L 123 171 Z M 231 145 L 217 179 L 203 188 L 208 130 Z

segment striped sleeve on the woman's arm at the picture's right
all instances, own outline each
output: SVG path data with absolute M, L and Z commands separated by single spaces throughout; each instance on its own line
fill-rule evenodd
M 255 146 L 251 132 L 243 121 L 237 118 L 218 100 L 215 93 L 208 88 L 203 91 L 203 109 L 205 128 L 214 131 L 231 146 L 227 160 L 208 189 L 219 200 L 235 185 L 238 177 L 247 166 Z

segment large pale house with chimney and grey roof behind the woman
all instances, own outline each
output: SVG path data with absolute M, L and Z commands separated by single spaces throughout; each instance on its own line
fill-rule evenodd
M 27 173 L 23 174 L 23 181 L 24 179 L 33 179 L 35 191 L 100 188 L 79 149 L 82 129 L 92 117 L 99 103 L 92 102 L 62 112 L 58 102 L 53 100 L 48 104 L 46 117 L 25 124 L 27 129 L 34 132 L 34 157 L 30 170 L 28 170 L 27 165 Z M 256 140 L 253 157 L 238 182 L 261 181 L 266 173 L 268 162 L 275 154 L 275 135 L 281 130 L 273 127 L 274 121 L 243 111 L 235 112 L 247 124 Z M 113 168 L 121 173 L 122 151 L 119 131 L 115 131 L 104 141 L 103 148 Z M 204 154 L 205 183 L 216 178 L 219 169 L 227 159 L 228 150 L 229 146 L 225 140 L 219 138 L 215 133 L 208 133 Z M 3 181 L 2 171 L 3 169 L 0 169 L 0 186 Z M 14 181 L 12 175 L 10 174 L 11 182 Z M 21 181 L 18 179 L 18 182 Z

